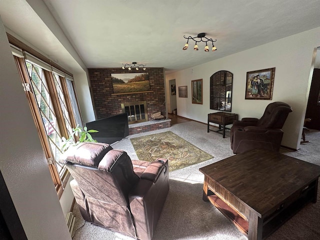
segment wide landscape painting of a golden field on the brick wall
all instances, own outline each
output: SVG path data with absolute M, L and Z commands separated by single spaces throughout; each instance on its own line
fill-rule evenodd
M 150 90 L 149 74 L 111 73 L 113 93 L 131 93 Z

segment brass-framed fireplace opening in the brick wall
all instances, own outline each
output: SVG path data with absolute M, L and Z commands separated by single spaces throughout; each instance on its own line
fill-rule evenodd
M 121 109 L 127 113 L 129 124 L 148 120 L 146 101 L 121 103 Z

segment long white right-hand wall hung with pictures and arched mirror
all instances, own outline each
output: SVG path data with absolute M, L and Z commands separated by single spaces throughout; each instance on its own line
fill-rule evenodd
M 178 115 L 207 122 L 207 113 L 215 111 L 209 106 L 209 78 L 219 70 L 232 72 L 232 112 L 239 114 L 239 118 L 260 117 L 268 103 L 288 103 L 293 111 L 282 128 L 284 135 L 281 144 L 297 149 L 311 81 L 312 55 L 317 46 L 320 46 L 320 27 L 173 72 L 165 78 L 166 81 L 175 78 L 177 90 L 178 86 L 188 86 L 188 97 L 177 97 Z M 201 52 L 194 52 L 198 53 Z M 270 67 L 275 67 L 272 100 L 245 100 L 246 72 Z M 200 78 L 203 78 L 203 104 L 191 104 L 191 80 Z

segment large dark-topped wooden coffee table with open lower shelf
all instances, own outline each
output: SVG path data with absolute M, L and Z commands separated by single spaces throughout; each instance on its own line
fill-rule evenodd
M 209 200 L 249 240 L 265 239 L 306 203 L 316 202 L 320 166 L 255 149 L 199 169 Z

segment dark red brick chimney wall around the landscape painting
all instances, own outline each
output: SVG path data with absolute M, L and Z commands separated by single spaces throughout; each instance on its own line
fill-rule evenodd
M 96 119 L 122 113 L 121 103 L 146 101 L 148 118 L 161 111 L 165 115 L 163 67 L 150 67 L 143 70 L 117 68 L 88 68 L 91 94 Z M 113 94 L 111 73 L 149 74 L 150 91 L 144 93 Z

